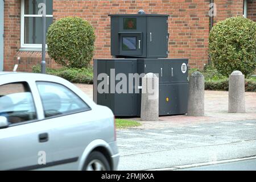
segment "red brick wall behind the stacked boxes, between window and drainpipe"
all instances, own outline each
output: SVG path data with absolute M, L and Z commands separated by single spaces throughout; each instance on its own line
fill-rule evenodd
M 96 31 L 97 58 L 110 58 L 110 18 L 108 14 L 169 14 L 170 57 L 188 57 L 192 67 L 203 68 L 208 62 L 209 1 L 54 1 L 56 19 L 80 16 Z

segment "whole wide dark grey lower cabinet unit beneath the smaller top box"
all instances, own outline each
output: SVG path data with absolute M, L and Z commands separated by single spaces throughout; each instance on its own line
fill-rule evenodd
M 114 71 L 114 72 L 113 72 Z M 96 59 L 94 60 L 93 100 L 108 106 L 115 116 L 139 116 L 141 114 L 141 79 L 133 80 L 129 88 L 130 75 L 155 73 L 159 76 L 159 115 L 187 113 L 188 105 L 188 59 Z M 104 73 L 102 76 L 101 73 Z M 126 79 L 126 93 L 117 93 L 115 88 L 121 81 L 118 73 Z M 123 75 L 123 76 L 124 76 Z M 104 77 L 104 78 L 103 78 Z M 98 86 L 105 80 L 105 93 Z M 129 89 L 133 90 L 132 93 Z M 135 90 L 139 89 L 139 93 Z

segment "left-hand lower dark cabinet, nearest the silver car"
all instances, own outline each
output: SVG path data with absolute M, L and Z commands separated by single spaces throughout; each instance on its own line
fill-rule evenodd
M 118 116 L 137 115 L 137 95 L 129 93 L 129 82 L 126 83 L 126 93 L 117 93 L 115 90 L 119 82 L 115 79 L 118 73 L 128 78 L 129 73 L 137 72 L 137 59 L 96 59 L 93 61 L 93 71 L 93 101 L 108 106 Z M 98 89 L 102 80 L 106 82 Z M 98 92 L 100 89 L 104 93 Z

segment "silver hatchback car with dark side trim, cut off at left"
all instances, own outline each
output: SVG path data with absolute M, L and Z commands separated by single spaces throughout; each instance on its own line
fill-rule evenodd
M 0 170 L 117 169 L 114 115 L 63 78 L 0 72 Z

